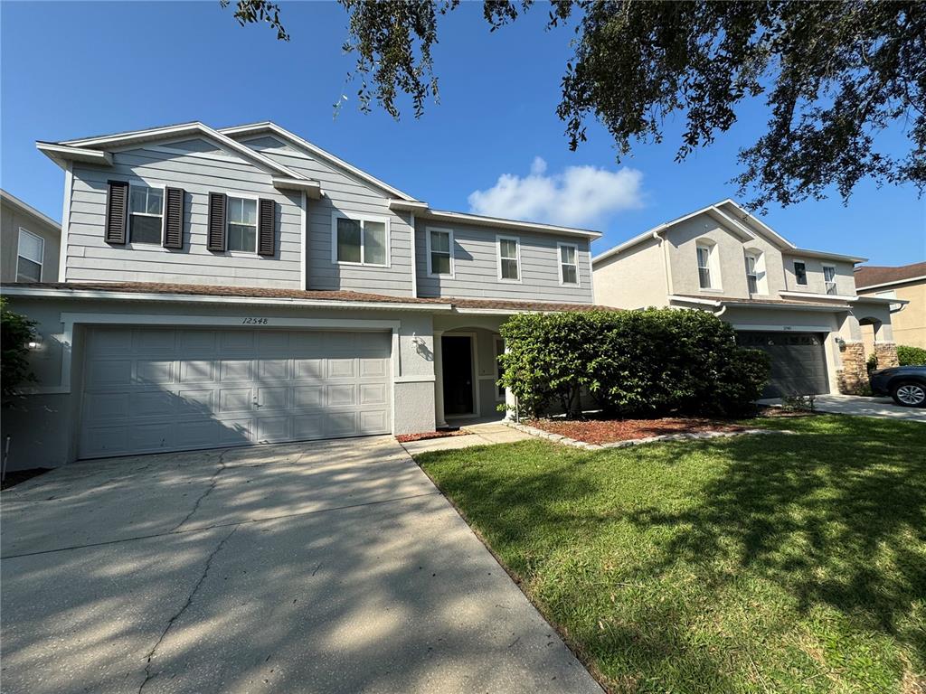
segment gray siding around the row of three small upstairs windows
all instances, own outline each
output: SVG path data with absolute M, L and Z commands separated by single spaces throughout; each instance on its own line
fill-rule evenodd
M 522 301 L 590 304 L 592 273 L 589 247 L 585 239 L 554 234 L 525 233 L 416 220 L 418 293 L 424 297 L 516 299 Z M 454 277 L 429 277 L 426 229 L 452 229 L 454 232 Z M 496 234 L 520 240 L 520 282 L 498 279 Z M 579 247 L 579 286 L 559 284 L 557 243 Z

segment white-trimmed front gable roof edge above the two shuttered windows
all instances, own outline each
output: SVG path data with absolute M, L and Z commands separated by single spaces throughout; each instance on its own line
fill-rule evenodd
M 281 176 L 284 179 L 308 180 L 305 176 L 296 173 L 293 169 L 284 167 L 269 156 L 261 155 L 259 152 L 233 140 L 228 135 L 222 134 L 219 130 L 209 128 L 205 123 L 201 123 L 198 120 L 159 128 L 128 130 L 111 135 L 98 135 L 77 140 L 64 140 L 58 143 L 45 143 L 40 141 L 35 143 L 35 146 L 40 152 L 51 158 L 58 166 L 61 166 L 62 160 L 69 159 L 76 161 L 94 161 L 95 163 L 106 164 L 111 163 L 111 157 L 107 162 L 104 160 L 104 157 L 101 157 L 101 152 L 105 155 L 108 150 L 127 147 L 132 144 L 150 143 L 191 136 L 203 137 L 206 138 L 206 140 L 211 140 L 231 150 L 235 154 L 242 156 L 257 167 L 271 174 Z

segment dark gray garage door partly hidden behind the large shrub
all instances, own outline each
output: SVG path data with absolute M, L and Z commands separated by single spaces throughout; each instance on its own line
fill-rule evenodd
M 741 346 L 762 350 L 771 357 L 771 377 L 762 393 L 764 398 L 829 392 L 823 339 L 822 334 L 815 332 L 741 331 L 736 334 Z

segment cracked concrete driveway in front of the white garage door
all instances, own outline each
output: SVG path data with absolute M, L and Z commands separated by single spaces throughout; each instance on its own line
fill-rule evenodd
M 391 438 L 3 492 L 3 690 L 600 692 Z

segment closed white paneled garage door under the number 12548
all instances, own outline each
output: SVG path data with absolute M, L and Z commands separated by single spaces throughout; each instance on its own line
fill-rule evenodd
M 91 328 L 81 458 L 388 434 L 383 332 Z

